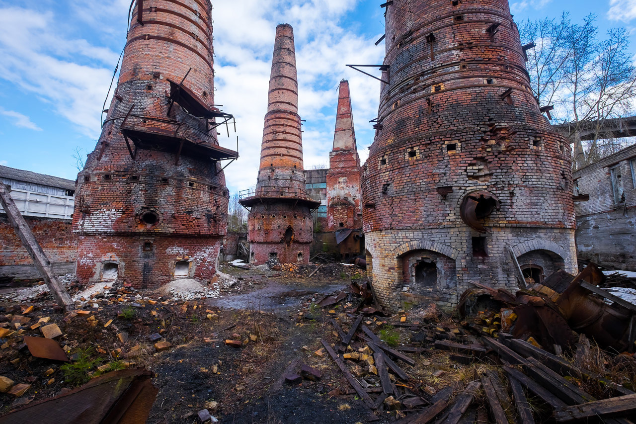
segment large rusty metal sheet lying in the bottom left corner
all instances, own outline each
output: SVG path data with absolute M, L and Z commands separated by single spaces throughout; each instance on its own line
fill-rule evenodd
M 113 371 L 52 399 L 0 417 L 0 424 L 145 423 L 158 389 L 144 369 Z

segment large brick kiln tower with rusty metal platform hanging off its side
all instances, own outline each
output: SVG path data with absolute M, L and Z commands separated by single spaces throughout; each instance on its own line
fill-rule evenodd
M 121 73 L 95 151 L 78 175 L 80 281 L 137 288 L 210 279 L 228 190 L 214 108 L 209 0 L 137 0 Z

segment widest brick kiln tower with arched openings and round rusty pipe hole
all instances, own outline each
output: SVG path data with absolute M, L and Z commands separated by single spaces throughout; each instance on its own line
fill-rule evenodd
M 576 271 L 570 146 L 532 96 L 508 0 L 387 6 L 378 124 L 363 170 L 378 298 L 451 307 L 481 281 Z

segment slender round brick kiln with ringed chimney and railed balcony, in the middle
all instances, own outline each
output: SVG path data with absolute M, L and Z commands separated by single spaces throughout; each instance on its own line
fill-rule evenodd
M 314 236 L 311 209 L 319 202 L 305 191 L 291 25 L 276 27 L 256 192 L 240 199 L 240 204 L 251 208 L 247 218 L 250 262 L 308 263 Z

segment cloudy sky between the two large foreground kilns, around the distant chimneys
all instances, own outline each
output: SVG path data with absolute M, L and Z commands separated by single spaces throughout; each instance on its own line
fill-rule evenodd
M 384 45 L 375 46 L 382 34 L 359 36 L 343 24 L 342 18 L 357 0 L 243 0 L 244 7 L 214 4 L 214 51 L 217 58 L 215 101 L 237 118 L 240 159 L 226 171 L 231 190 L 256 183 L 263 119 L 267 108 L 275 28 L 294 27 L 298 66 L 299 113 L 303 120 L 305 169 L 329 163 L 333 145 L 338 83 L 349 80 L 359 154 L 364 161 L 366 147 L 373 141 L 368 121 L 377 117 L 380 83 L 347 68 L 348 63 L 376 64 L 384 57 Z M 282 11 L 272 15 L 271 11 Z M 237 25 L 249 22 L 249 25 Z M 222 131 L 224 132 L 225 129 Z M 225 133 L 224 133 L 225 134 Z M 221 145 L 232 147 L 235 139 L 219 137 Z

